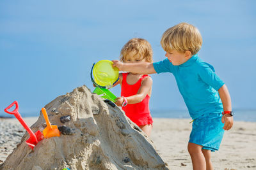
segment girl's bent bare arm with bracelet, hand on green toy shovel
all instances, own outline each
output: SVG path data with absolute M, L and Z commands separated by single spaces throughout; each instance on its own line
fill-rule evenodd
M 128 104 L 135 104 L 143 101 L 143 99 L 147 96 L 148 92 L 150 92 L 152 88 L 152 83 L 153 83 L 152 78 L 150 77 L 144 78 L 141 81 L 141 87 L 138 90 L 138 93 L 133 96 L 126 97 Z M 115 104 L 117 106 L 122 106 L 122 103 L 124 103 L 123 97 L 117 97 L 116 100 L 117 101 L 115 102 Z

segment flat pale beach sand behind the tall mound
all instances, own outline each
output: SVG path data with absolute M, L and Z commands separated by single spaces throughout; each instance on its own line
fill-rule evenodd
M 30 126 L 37 117 L 24 118 Z M 193 169 L 187 150 L 191 125 L 189 119 L 153 118 L 151 139 L 160 156 L 170 169 Z M 0 118 L 1 146 L 0 164 L 12 153 L 24 134 L 24 129 L 15 118 Z M 6 130 L 3 124 L 9 124 Z M 12 126 L 13 125 L 13 126 Z M 18 129 L 22 132 L 18 132 Z M 21 133 L 21 134 L 19 134 Z M 17 135 L 18 134 L 18 135 Z M 8 138 L 6 138 L 8 136 Z M 226 131 L 218 152 L 212 152 L 214 169 L 256 169 L 256 123 L 235 122 Z

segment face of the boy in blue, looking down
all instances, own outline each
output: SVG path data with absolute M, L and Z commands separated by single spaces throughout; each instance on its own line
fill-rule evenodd
M 182 53 L 177 50 L 170 50 L 170 52 L 166 52 L 165 57 L 172 62 L 173 66 L 179 66 L 191 58 L 191 52 Z

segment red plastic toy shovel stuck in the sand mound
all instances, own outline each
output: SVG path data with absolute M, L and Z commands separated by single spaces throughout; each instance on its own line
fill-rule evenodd
M 15 110 L 8 111 L 10 108 L 12 108 L 12 106 L 14 104 L 16 107 Z M 44 139 L 44 135 L 40 131 L 37 131 L 34 134 L 33 131 L 31 131 L 31 129 L 28 127 L 26 122 L 24 122 L 24 120 L 20 116 L 20 113 L 18 112 L 18 110 L 19 110 L 19 105 L 18 105 L 17 101 L 14 101 L 10 106 L 8 106 L 7 108 L 4 109 L 4 111 L 6 113 L 14 115 L 19 120 L 20 124 L 24 127 L 24 129 L 26 129 L 26 131 L 28 131 L 30 138 L 26 141 L 26 143 L 28 144 L 28 146 L 30 148 L 32 148 L 32 150 L 34 150 L 34 147 L 38 143 L 38 141 L 41 141 L 42 139 Z

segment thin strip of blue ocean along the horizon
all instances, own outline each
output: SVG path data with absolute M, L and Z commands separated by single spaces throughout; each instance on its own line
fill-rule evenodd
M 39 112 L 20 113 L 22 117 L 38 117 Z M 186 110 L 151 110 L 152 118 L 190 118 Z M 7 113 L 0 113 L 0 117 L 14 117 Z M 191 119 L 191 118 L 190 118 Z M 234 110 L 234 120 L 256 122 L 256 110 Z

